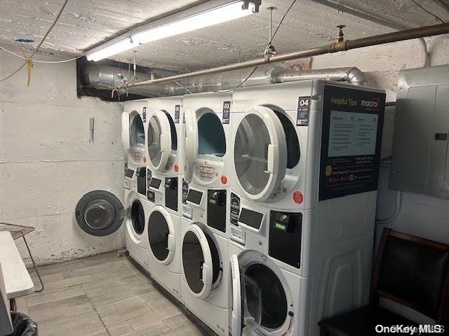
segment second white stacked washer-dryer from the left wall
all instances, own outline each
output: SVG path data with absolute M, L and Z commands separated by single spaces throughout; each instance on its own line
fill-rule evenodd
M 148 99 L 146 125 L 149 272 L 182 301 L 182 97 Z

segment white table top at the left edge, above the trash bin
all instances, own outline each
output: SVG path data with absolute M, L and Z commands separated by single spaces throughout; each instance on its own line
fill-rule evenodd
M 8 231 L 0 232 L 0 264 L 8 299 L 34 292 L 34 283 Z

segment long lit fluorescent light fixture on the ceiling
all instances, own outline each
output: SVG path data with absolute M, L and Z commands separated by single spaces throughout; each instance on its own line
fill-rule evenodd
M 87 59 L 88 61 L 96 62 L 100 59 L 105 59 L 112 55 L 116 55 L 119 52 L 135 48 L 143 43 L 149 43 L 152 41 L 161 40 L 162 38 L 218 25 L 223 22 L 244 18 L 255 13 L 254 3 L 249 3 L 248 9 L 243 9 L 242 5 L 243 1 L 234 1 L 232 3 L 227 3 L 222 6 L 217 6 L 215 8 L 190 15 L 187 18 L 166 23 L 165 25 L 152 27 L 147 30 L 136 32 L 135 34 L 130 34 L 121 41 L 109 44 L 103 48 L 95 48 L 93 52 L 88 53 Z

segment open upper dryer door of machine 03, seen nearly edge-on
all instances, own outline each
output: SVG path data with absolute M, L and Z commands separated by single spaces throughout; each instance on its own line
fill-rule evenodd
M 185 111 L 185 181 L 192 182 L 194 164 L 198 156 L 198 123 L 196 113 L 187 109 Z

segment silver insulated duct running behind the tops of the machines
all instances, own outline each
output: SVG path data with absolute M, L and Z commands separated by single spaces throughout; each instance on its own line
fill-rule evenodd
M 129 92 L 140 94 L 145 97 L 167 97 L 189 93 L 232 90 L 239 85 L 240 87 L 252 87 L 311 79 L 335 80 L 355 85 L 367 84 L 365 73 L 355 67 L 297 71 L 292 70 L 285 63 L 267 64 L 265 66 L 258 66 L 250 78 L 248 78 L 252 71 L 253 68 L 240 69 L 187 78 L 170 83 L 130 87 Z M 123 69 L 114 66 L 87 64 L 82 71 L 83 85 L 112 90 L 114 87 L 122 85 L 130 80 L 130 78 L 126 78 L 126 75 L 123 72 Z M 157 78 L 161 75 L 164 77 L 166 74 L 156 73 L 155 75 Z M 146 73 L 137 73 L 136 76 L 139 81 L 149 79 L 149 75 Z M 241 85 L 246 78 L 248 78 L 248 80 Z

